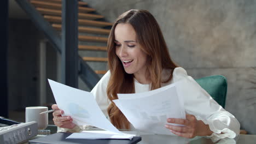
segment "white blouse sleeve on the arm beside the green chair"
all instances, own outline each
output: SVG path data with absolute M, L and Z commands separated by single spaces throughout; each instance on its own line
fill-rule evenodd
M 182 95 L 187 113 L 208 124 L 213 131 L 211 137 L 234 139 L 240 133 L 240 123 L 223 109 L 183 68 L 173 71 L 174 82 L 184 80 Z

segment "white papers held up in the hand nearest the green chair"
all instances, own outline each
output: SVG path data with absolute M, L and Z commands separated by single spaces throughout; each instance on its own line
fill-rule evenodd
M 118 94 L 115 105 L 137 130 L 173 135 L 165 128 L 167 118 L 185 118 L 184 102 L 176 91 L 181 82 L 149 92 Z

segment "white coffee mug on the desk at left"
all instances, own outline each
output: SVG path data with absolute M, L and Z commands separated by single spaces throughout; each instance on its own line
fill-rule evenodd
M 36 121 L 38 129 L 45 129 L 48 126 L 48 113 L 39 114 L 48 111 L 46 106 L 26 107 L 26 122 Z

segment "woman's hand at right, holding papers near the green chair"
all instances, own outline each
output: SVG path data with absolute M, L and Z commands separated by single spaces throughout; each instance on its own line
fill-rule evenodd
M 213 132 L 210 130 L 209 125 L 202 121 L 197 121 L 194 115 L 186 115 L 186 119 L 181 118 L 167 118 L 168 123 L 183 124 L 184 126 L 176 126 L 166 124 L 165 127 L 173 134 L 178 136 L 193 138 L 195 136 L 211 135 Z

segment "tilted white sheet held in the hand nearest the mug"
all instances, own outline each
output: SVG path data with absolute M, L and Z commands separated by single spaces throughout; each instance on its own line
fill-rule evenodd
M 77 125 L 88 124 L 123 135 L 104 116 L 92 93 L 72 88 L 53 80 L 48 79 L 48 81 L 59 109 L 65 112 L 63 116 L 71 116 L 73 123 Z

